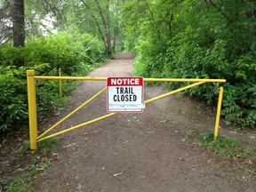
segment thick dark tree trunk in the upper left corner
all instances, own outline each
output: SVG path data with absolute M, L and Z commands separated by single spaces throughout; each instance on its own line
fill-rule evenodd
M 25 12 L 24 0 L 13 0 L 12 7 L 13 46 L 25 45 Z

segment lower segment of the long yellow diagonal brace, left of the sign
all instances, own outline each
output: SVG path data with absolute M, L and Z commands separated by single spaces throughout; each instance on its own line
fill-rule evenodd
M 97 121 L 100 121 L 100 120 L 102 120 L 102 119 L 105 119 L 105 118 L 108 118 L 109 116 L 114 116 L 114 115 L 116 115 L 116 113 L 110 113 L 110 114 L 108 114 L 108 115 L 106 115 L 106 116 L 100 116 L 100 117 L 98 117 L 98 118 L 92 119 L 91 121 L 85 122 L 84 124 L 78 124 L 78 125 L 76 125 L 76 126 L 74 126 L 74 127 L 70 127 L 70 128 L 68 128 L 68 129 L 66 129 L 66 130 L 63 130 L 63 131 L 61 131 L 61 132 L 56 132 L 56 133 L 54 133 L 54 134 L 52 134 L 52 135 L 46 136 L 46 137 L 44 137 L 44 138 L 41 138 L 40 140 L 37 140 L 37 142 L 40 142 L 40 141 L 42 141 L 42 140 L 47 140 L 47 139 L 50 139 L 50 138 L 52 138 L 52 137 L 56 137 L 56 136 L 58 136 L 58 135 L 60 135 L 60 134 L 63 134 L 63 133 L 65 133 L 65 132 L 71 132 L 71 131 L 76 130 L 76 129 L 78 129 L 78 128 L 81 128 L 81 127 L 83 127 L 83 126 L 85 126 L 85 125 L 93 124 L 93 123 L 95 123 L 95 122 L 97 122 Z

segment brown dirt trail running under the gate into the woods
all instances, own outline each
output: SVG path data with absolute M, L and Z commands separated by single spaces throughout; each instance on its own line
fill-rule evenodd
M 89 76 L 131 76 L 132 55 Z M 63 110 L 65 116 L 105 82 L 84 82 Z M 146 87 L 145 97 L 167 92 Z M 172 96 L 146 106 L 142 114 L 117 114 L 62 136 L 49 171 L 36 177 L 36 191 L 171 192 L 256 191 L 256 178 L 236 160 L 216 158 L 187 137 L 213 131 L 214 114 L 187 97 Z M 106 114 L 106 94 L 60 125 L 58 130 Z

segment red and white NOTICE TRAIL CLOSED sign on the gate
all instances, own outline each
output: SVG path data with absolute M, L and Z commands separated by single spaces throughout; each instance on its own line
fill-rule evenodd
M 142 112 L 144 89 L 142 77 L 108 77 L 108 112 Z

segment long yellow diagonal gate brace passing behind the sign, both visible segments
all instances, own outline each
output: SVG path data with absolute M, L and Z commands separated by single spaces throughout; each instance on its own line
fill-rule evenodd
M 160 99 L 162 99 L 162 98 L 164 98 L 164 97 L 167 97 L 167 96 L 169 96 L 169 95 L 175 94 L 175 93 L 177 93 L 177 92 L 182 92 L 182 91 L 184 91 L 184 90 L 186 90 L 186 89 L 189 89 L 189 88 L 191 88 L 191 87 L 197 86 L 197 85 L 199 85 L 199 84 L 204 84 L 204 83 L 206 83 L 206 82 L 199 82 L 199 83 L 196 83 L 196 84 L 190 84 L 190 85 L 188 85 L 188 86 L 182 87 L 182 88 L 177 89 L 177 90 L 174 90 L 174 91 L 172 91 L 172 92 L 167 92 L 167 93 L 162 94 L 162 95 L 159 95 L 159 96 L 157 96 L 157 97 L 155 97 L 155 98 L 146 100 L 144 103 L 149 103 L 149 102 L 153 102 L 153 101 L 155 101 L 155 100 L 160 100 Z M 116 113 L 110 113 L 110 114 L 108 114 L 108 115 L 106 115 L 106 116 L 100 116 L 100 117 L 98 117 L 98 118 L 92 119 L 91 121 L 85 122 L 84 124 L 78 124 L 78 125 L 76 125 L 76 126 L 74 126 L 74 127 L 68 128 L 68 129 L 66 129 L 66 130 L 64 130 L 64 131 L 56 132 L 56 133 L 54 133 L 54 134 L 52 134 L 52 135 L 46 136 L 46 137 L 44 137 L 44 138 L 41 138 L 41 139 L 39 139 L 39 140 L 37 140 L 37 141 L 39 142 L 39 141 L 42 141 L 42 140 L 47 140 L 47 139 L 50 139 L 50 138 L 52 138 L 52 137 L 56 137 L 56 136 L 58 136 L 58 135 L 60 135 L 60 134 L 63 134 L 63 133 L 65 133 L 65 132 L 71 132 L 71 131 L 76 130 L 76 129 L 78 129 L 78 128 L 84 127 L 85 125 L 93 124 L 93 123 L 95 123 L 95 122 L 97 122 L 97 121 L 100 121 L 100 120 L 102 120 L 102 119 L 105 119 L 105 118 L 108 118 L 109 116 L 114 116 L 114 115 L 116 115 Z

